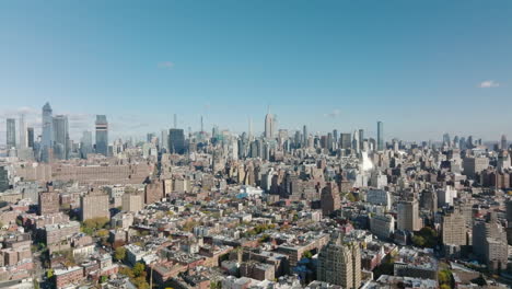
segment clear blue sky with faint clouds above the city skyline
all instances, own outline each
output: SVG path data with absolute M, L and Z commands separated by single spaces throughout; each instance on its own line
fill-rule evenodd
M 72 136 L 213 124 L 512 138 L 512 1 L 2 1 L 0 138 L 49 101 Z

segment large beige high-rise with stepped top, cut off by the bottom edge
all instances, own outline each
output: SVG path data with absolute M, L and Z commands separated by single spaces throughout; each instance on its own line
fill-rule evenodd
M 361 286 L 361 251 L 356 243 L 344 244 L 333 238 L 318 253 L 316 277 L 319 281 L 357 289 Z

